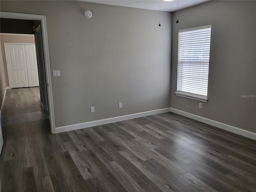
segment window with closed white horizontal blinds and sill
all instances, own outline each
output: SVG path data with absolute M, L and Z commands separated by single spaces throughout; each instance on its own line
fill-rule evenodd
M 179 30 L 177 96 L 207 102 L 211 25 Z

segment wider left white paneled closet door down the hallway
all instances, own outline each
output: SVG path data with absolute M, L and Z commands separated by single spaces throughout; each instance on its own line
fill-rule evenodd
M 10 87 L 28 87 L 25 46 L 6 44 L 5 51 Z

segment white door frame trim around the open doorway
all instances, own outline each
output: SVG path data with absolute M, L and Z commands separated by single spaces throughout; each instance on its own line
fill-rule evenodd
M 45 15 L 24 14 L 24 13 L 0 12 L 0 18 L 41 21 L 42 39 L 43 39 L 43 47 L 44 47 L 44 63 L 45 63 L 45 72 L 46 72 L 46 83 L 48 84 L 47 92 L 48 92 L 49 113 L 50 113 L 50 126 L 51 126 L 51 132 L 52 132 L 52 134 L 54 134 L 54 133 L 56 133 L 56 126 L 55 126 L 55 117 L 54 117 L 52 78 L 51 78 L 50 54 L 49 54 L 49 46 L 48 46 L 46 16 Z

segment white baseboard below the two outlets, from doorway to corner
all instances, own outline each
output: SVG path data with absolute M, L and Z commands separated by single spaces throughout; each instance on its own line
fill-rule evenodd
M 90 121 L 90 122 L 85 122 L 85 123 L 80 123 L 80 124 L 56 127 L 56 133 L 72 131 L 72 130 L 77 130 L 77 129 L 82 129 L 82 128 L 88 128 L 88 127 L 93 127 L 93 126 L 98 126 L 98 125 L 104 125 L 104 124 L 108 124 L 108 123 L 114 123 L 114 122 L 118 122 L 118 121 L 124 121 L 124 120 L 145 117 L 145 116 L 166 113 L 166 112 L 170 112 L 170 108 L 157 109 L 157 110 L 140 112 L 140 113 L 118 116 L 118 117 L 113 117 L 113 118 Z

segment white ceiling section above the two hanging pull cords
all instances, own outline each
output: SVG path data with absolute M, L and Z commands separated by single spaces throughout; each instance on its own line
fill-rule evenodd
M 124 7 L 142 8 L 150 10 L 160 10 L 174 12 L 177 10 L 178 0 L 82 0 L 87 2 L 117 5 Z M 210 0 L 179 0 L 179 10 L 192 7 Z

